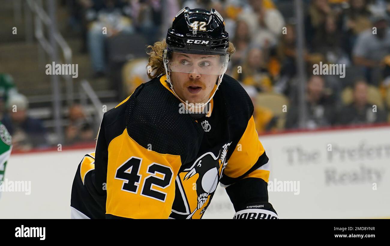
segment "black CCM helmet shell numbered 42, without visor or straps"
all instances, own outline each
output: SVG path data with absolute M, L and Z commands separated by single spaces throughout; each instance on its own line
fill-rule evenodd
M 229 34 L 223 18 L 215 9 L 190 9 L 179 11 L 167 33 L 167 47 L 195 51 L 226 52 Z

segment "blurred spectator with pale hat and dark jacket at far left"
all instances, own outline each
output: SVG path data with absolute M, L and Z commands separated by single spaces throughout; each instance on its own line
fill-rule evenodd
M 41 120 L 28 115 L 28 100 L 24 95 L 11 95 L 7 108 L 8 113 L 1 121 L 12 136 L 13 150 L 48 147 L 46 129 Z

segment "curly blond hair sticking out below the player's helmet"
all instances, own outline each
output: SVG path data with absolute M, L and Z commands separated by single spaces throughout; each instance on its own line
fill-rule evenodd
M 165 67 L 163 63 L 163 54 L 164 49 L 167 47 L 167 42 L 165 39 L 155 42 L 153 45 L 148 45 L 146 47 L 147 54 L 149 55 L 149 62 L 147 63 L 147 76 L 149 79 L 154 79 L 160 75 L 165 74 Z M 229 47 L 227 48 L 227 53 L 231 56 L 236 48 L 232 42 L 229 42 Z

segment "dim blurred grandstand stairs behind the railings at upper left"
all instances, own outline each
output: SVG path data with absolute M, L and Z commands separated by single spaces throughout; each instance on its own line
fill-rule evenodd
M 15 2 L 17 2 L 16 0 Z M 46 75 L 45 65 L 51 63 L 38 42 L 26 42 L 25 14 L 23 2 L 21 1 L 21 12 L 14 13 L 14 1 L 4 1 L 0 9 L 2 26 L 0 28 L 0 72 L 11 74 L 19 93 L 27 96 L 29 101 L 28 113 L 44 121 L 48 129 L 50 141 L 54 144 L 57 137 L 54 133 L 54 119 L 52 114 L 52 87 L 50 75 Z M 46 2 L 43 1 L 44 6 Z M 107 109 L 117 104 L 117 92 L 111 90 L 109 81 L 106 78 L 92 78 L 89 55 L 81 53 L 82 41 L 80 35 L 71 31 L 67 26 L 69 15 L 66 5 L 57 4 L 58 30 L 72 49 L 72 63 L 78 64 L 78 77 L 73 79 L 74 102 L 80 101 L 79 82 L 87 79 L 102 104 Z M 12 34 L 12 28 L 17 28 L 17 34 Z M 31 30 L 34 33 L 34 30 Z M 46 35 L 47 36 L 47 35 Z M 60 54 L 60 50 L 58 50 Z M 42 56 L 44 54 L 44 56 Z M 62 125 L 68 124 L 68 106 L 66 104 L 66 88 L 63 79 L 60 79 L 61 101 L 62 101 Z M 94 107 L 88 100 L 85 111 L 89 117 L 96 114 Z M 97 122 L 97 125 L 100 122 Z

